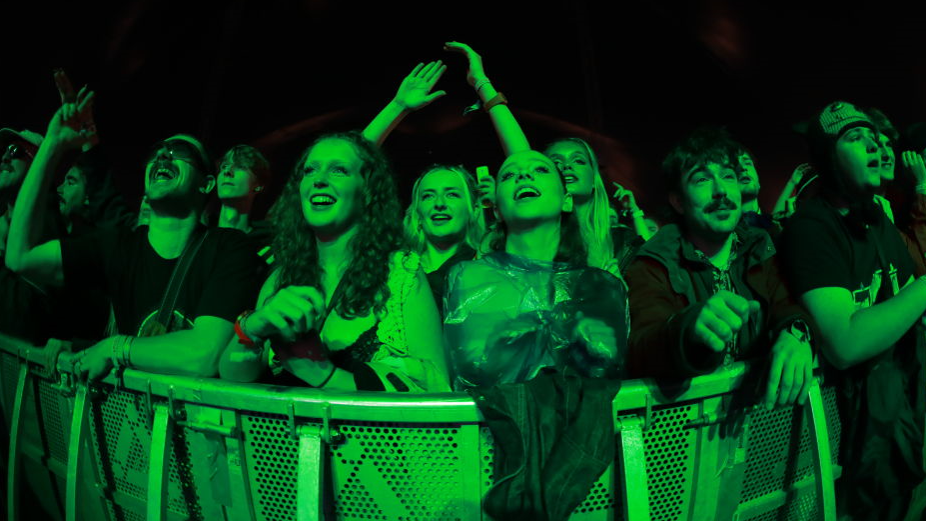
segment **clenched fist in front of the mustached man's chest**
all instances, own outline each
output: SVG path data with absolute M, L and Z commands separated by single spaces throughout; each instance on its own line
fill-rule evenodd
M 727 342 L 759 311 L 759 303 L 721 290 L 704 303 L 689 333 L 690 340 L 721 352 Z

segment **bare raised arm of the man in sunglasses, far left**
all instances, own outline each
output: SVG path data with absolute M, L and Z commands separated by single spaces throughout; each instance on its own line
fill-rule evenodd
M 13 207 L 6 266 L 39 286 L 64 283 L 60 241 L 38 242 L 44 225 L 44 194 L 62 156 L 89 140 L 91 133 L 81 128 L 81 120 L 86 118 L 92 101 L 93 92 L 84 87 L 73 103 L 66 102 L 55 111 Z

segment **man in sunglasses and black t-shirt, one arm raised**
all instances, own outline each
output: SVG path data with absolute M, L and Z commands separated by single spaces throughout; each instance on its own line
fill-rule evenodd
M 10 223 L 6 265 L 44 287 L 93 284 L 111 298 L 119 335 L 81 351 L 76 372 L 90 379 L 113 367 L 214 376 L 235 316 L 256 294 L 253 255 L 238 230 L 205 232 L 199 216 L 215 185 L 203 145 L 175 135 L 152 148 L 145 168 L 147 226 L 99 229 L 40 242 L 43 194 L 62 156 L 92 138 L 82 128 L 92 92 L 56 111 L 26 174 Z M 186 266 L 184 267 L 178 267 Z M 165 292 L 171 281 L 179 288 Z

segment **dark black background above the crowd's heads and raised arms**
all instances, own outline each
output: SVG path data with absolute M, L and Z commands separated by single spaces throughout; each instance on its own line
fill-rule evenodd
M 644 209 L 662 201 L 662 157 L 700 124 L 726 125 L 753 150 L 768 207 L 805 160 L 793 125 L 825 103 L 877 106 L 901 129 L 926 120 L 926 18 L 913 4 L 80 4 L 4 3 L 0 126 L 43 132 L 58 104 L 51 71 L 65 68 L 96 91 L 100 135 L 133 199 L 148 147 L 176 132 L 216 156 L 254 144 L 280 182 L 320 133 L 362 128 L 417 62 L 439 58 L 449 94 L 386 143 L 403 197 L 434 162 L 494 171 L 501 148 L 483 113 L 461 116 L 475 95 L 448 40 L 483 55 L 535 147 L 589 139 Z

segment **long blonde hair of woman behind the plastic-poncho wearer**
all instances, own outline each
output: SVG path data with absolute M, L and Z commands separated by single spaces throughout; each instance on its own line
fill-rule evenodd
M 598 170 L 598 156 L 595 155 L 595 151 L 584 139 L 576 137 L 558 139 L 550 143 L 547 145 L 544 154 L 548 154 L 553 145 L 563 142 L 579 145 L 588 156 L 594 175 L 591 201 L 584 211 L 580 210 L 576 205 L 575 213 L 579 222 L 579 233 L 582 235 L 582 241 L 588 250 L 588 265 L 595 268 L 607 268 L 611 261 L 614 260 L 614 240 L 611 238 L 611 218 L 608 215 L 611 204 L 608 199 L 608 189 L 605 187 L 604 179 L 601 178 L 601 172 Z

